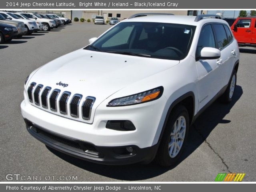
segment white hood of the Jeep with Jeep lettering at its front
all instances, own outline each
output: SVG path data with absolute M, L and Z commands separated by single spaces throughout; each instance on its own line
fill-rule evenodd
M 162 60 L 77 50 L 42 66 L 29 80 L 52 89 L 96 97 L 95 104 L 118 90 L 144 78 L 162 72 L 179 61 Z M 68 86 L 60 86 L 62 82 Z

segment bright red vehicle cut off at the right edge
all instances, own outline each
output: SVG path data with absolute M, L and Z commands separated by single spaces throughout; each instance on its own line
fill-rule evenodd
M 256 16 L 238 17 L 231 29 L 239 46 L 256 47 Z

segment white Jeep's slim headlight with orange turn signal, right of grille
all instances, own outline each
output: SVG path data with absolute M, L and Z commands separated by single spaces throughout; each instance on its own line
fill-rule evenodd
M 163 91 L 164 91 L 164 88 L 162 86 L 157 87 L 145 92 L 113 99 L 107 104 L 107 106 L 108 107 L 127 106 L 127 105 L 135 105 L 135 104 L 153 101 L 160 98 L 163 94 Z

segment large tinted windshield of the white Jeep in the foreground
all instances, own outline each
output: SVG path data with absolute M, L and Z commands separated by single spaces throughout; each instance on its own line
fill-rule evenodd
M 120 22 L 84 49 L 182 60 L 188 54 L 195 29 L 182 24 Z

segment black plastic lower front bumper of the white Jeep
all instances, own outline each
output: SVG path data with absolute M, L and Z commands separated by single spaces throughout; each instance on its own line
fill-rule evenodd
M 24 120 L 28 132 L 34 138 L 46 144 L 46 146 L 90 162 L 109 165 L 133 164 L 136 162 L 150 163 L 154 159 L 158 148 L 157 144 L 143 149 L 133 145 L 118 147 L 95 146 L 85 141 L 50 132 L 27 119 Z M 126 150 L 127 147 L 132 147 L 132 152 L 128 152 Z

